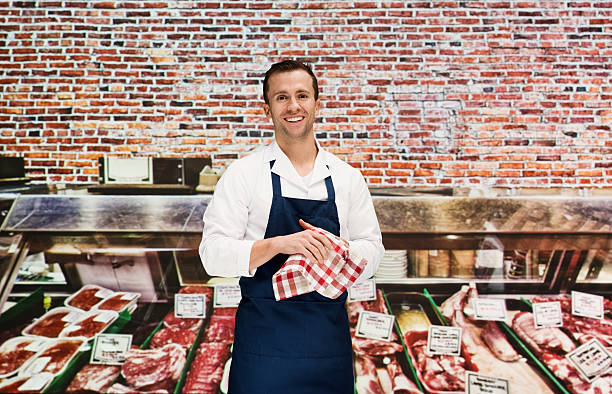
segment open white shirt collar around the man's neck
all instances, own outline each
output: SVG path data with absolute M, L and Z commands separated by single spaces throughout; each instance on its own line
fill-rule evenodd
M 328 153 L 321 148 L 318 141 L 315 140 L 315 143 L 317 144 L 318 153 L 312 169 L 312 176 L 310 177 L 311 184 L 319 182 L 331 175 L 331 171 L 328 167 Z M 301 183 L 301 177 L 293 167 L 293 164 L 291 164 L 291 160 L 289 160 L 285 152 L 282 151 L 276 141 L 272 142 L 268 146 L 268 149 L 266 149 L 266 163 L 269 163 L 272 160 L 275 160 L 274 165 L 272 166 L 272 172 L 294 183 Z

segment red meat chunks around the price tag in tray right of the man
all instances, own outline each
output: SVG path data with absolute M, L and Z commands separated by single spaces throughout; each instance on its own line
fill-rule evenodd
M 425 390 L 428 393 L 464 393 L 465 373 L 478 372 L 470 354 L 464 347 L 460 356 L 429 354 L 427 335 L 427 331 L 411 331 L 404 336 L 408 356 Z

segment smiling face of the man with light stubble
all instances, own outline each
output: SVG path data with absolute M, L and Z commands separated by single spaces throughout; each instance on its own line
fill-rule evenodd
M 320 101 L 315 100 L 312 79 L 304 70 L 273 74 L 268 80 L 264 111 L 274 123 L 277 140 L 305 139 L 312 133 Z

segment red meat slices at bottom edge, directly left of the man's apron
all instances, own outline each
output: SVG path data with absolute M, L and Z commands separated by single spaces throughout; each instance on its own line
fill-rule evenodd
M 218 393 L 223 368 L 231 355 L 231 343 L 203 342 L 187 375 L 183 393 Z

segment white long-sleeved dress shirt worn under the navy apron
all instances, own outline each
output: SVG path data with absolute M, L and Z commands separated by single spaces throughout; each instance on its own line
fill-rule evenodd
M 272 160 L 276 160 L 272 172 L 280 176 L 284 197 L 327 200 L 325 178 L 331 175 L 340 237 L 368 261 L 358 282 L 372 277 L 384 247 L 372 198 L 359 170 L 319 146 L 311 174 L 302 178 L 276 142 L 234 161 L 217 183 L 204 213 L 200 243 L 206 272 L 222 277 L 255 274 L 256 270 L 249 271 L 249 260 L 253 243 L 266 233 L 273 194 Z

